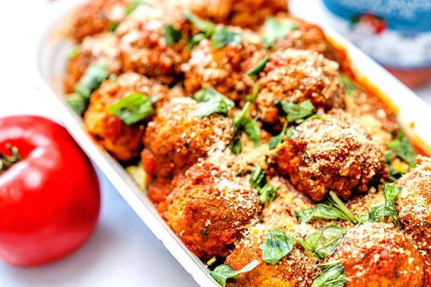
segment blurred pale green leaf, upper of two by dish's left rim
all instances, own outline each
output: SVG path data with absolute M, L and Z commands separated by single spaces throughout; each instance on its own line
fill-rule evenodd
M 102 81 L 109 76 L 106 64 L 91 64 L 75 86 L 75 93 L 89 99 L 93 91 L 99 89 Z

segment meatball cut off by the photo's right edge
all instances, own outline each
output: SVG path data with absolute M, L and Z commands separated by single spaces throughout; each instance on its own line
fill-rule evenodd
M 418 157 L 418 165 L 396 181 L 403 186 L 396 210 L 401 227 L 431 261 L 431 159 Z

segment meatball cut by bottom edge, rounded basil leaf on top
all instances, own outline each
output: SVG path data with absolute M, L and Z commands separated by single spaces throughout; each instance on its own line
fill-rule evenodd
M 257 225 L 250 230 L 250 235 L 244 238 L 240 244 L 233 249 L 233 252 L 226 259 L 226 264 L 230 264 L 234 270 L 240 270 L 254 259 L 260 261 L 252 271 L 240 274 L 227 286 L 286 286 L 302 287 L 311 286 L 314 278 L 318 276 L 318 259 L 305 253 L 303 248 L 295 242 L 292 251 L 280 259 L 275 265 L 262 261 L 262 249 L 260 246 L 264 241 L 264 234 L 273 230 L 270 225 Z M 276 229 L 286 232 L 295 237 L 305 237 L 296 235 L 295 230 L 286 226 L 276 225 Z

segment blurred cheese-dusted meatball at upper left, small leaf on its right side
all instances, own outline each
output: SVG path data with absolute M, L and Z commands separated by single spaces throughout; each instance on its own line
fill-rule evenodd
M 165 27 L 181 30 L 178 42 L 168 43 Z M 189 60 L 186 37 L 189 22 L 180 11 L 138 6 L 116 30 L 123 71 L 156 77 L 163 84 L 172 84 L 181 76 L 180 65 Z

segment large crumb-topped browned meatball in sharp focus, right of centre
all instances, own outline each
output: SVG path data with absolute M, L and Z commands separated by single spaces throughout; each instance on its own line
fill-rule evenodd
M 379 143 L 349 114 L 332 110 L 296 130 L 299 136 L 284 138 L 273 161 L 313 201 L 323 200 L 331 190 L 347 199 L 352 191 L 368 191 L 371 181 L 387 177 Z

